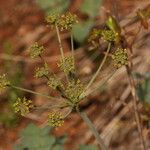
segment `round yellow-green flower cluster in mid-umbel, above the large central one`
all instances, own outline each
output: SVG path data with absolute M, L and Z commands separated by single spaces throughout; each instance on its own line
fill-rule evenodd
M 73 57 L 69 56 L 61 58 L 58 67 L 67 74 L 73 72 L 75 70 Z

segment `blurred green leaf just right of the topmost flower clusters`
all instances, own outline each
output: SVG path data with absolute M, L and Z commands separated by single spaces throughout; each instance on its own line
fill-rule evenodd
M 72 31 L 74 39 L 77 42 L 82 43 L 88 36 L 90 29 L 93 27 L 93 25 L 94 25 L 93 20 L 88 20 L 85 21 L 84 23 L 78 23 L 74 25 Z

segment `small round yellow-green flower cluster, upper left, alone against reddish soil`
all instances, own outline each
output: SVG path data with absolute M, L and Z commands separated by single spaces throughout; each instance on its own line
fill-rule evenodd
M 40 46 L 37 42 L 34 43 L 31 47 L 30 47 L 30 57 L 31 58 L 37 58 L 39 57 L 43 51 L 44 51 L 44 47 Z

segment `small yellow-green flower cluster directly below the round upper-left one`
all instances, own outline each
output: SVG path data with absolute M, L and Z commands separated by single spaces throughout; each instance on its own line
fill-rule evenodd
M 41 78 L 43 76 L 47 76 L 49 74 L 49 69 L 48 65 L 45 63 L 44 67 L 37 68 L 35 71 L 35 77 L 36 78 Z

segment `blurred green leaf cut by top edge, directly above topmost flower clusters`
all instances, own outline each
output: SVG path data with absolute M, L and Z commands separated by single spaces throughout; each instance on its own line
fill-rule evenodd
M 46 11 L 46 13 L 62 13 L 70 5 L 70 0 L 36 0 L 36 3 Z

